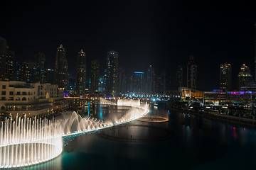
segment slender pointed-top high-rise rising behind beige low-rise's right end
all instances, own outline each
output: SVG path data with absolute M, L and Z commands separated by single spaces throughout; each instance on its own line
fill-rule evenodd
M 60 45 L 57 49 L 54 71 L 55 84 L 57 84 L 59 88 L 64 88 L 66 91 L 68 88 L 68 60 L 63 45 Z

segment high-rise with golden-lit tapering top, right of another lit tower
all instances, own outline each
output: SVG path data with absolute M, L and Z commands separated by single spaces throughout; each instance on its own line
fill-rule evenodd
M 240 90 L 243 86 L 248 86 L 252 82 L 252 75 L 247 65 L 242 64 L 240 72 L 238 74 L 238 89 Z

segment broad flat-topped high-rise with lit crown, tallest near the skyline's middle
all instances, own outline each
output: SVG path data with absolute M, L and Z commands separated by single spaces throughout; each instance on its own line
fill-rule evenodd
M 117 74 L 118 74 L 118 52 L 107 52 L 106 68 L 106 93 L 113 96 L 117 93 Z

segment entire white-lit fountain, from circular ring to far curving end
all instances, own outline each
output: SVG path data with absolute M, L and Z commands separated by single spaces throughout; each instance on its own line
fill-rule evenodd
M 115 122 L 103 122 L 97 118 L 82 118 L 75 112 L 59 120 L 41 118 L 7 119 L 0 129 L 0 168 L 31 166 L 54 159 L 63 150 L 62 137 L 110 128 L 128 123 L 149 113 L 148 106 L 140 101 L 118 100 L 117 103 L 101 99 L 105 105 L 130 106 L 131 110 Z

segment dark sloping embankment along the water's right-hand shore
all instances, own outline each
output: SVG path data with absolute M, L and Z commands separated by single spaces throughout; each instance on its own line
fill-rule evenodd
M 208 112 L 208 111 L 194 111 L 189 108 L 178 108 L 176 106 L 170 106 L 169 109 L 175 111 L 181 111 L 185 113 L 191 113 L 194 115 L 200 115 L 203 118 L 210 118 L 213 120 L 220 120 L 225 123 L 235 123 L 236 125 L 245 125 L 250 128 L 256 128 L 256 120 L 248 119 L 248 118 L 239 118 L 232 115 L 220 115 L 218 113 Z

